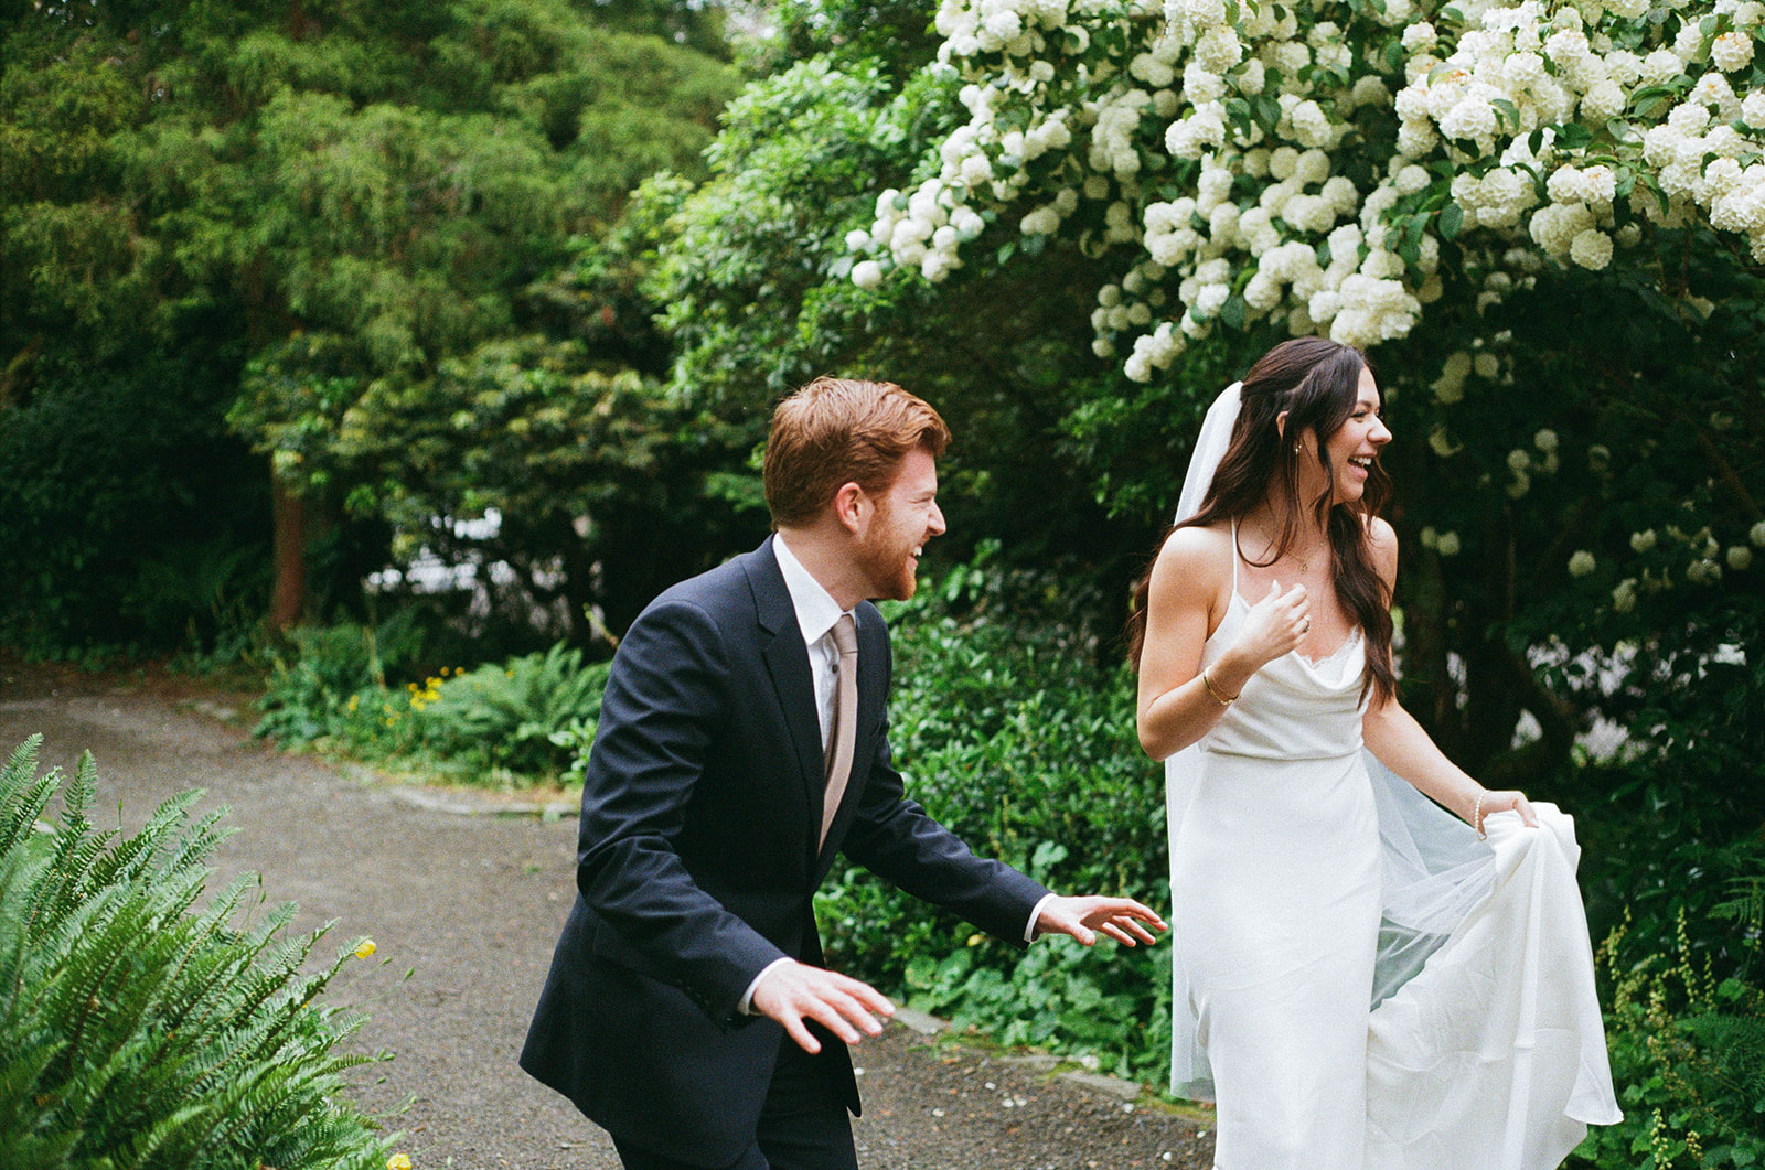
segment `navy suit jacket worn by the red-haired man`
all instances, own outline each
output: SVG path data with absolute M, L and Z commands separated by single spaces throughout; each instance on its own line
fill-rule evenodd
M 904 796 L 888 628 L 868 602 L 856 618 L 858 743 L 822 849 L 814 681 L 771 538 L 671 588 L 620 644 L 582 785 L 577 900 L 521 1068 L 621 1138 L 706 1165 L 752 1144 L 791 1041 L 738 1002 L 777 958 L 822 965 L 812 898 L 835 854 L 1015 942 L 1047 895 Z M 845 1046 L 822 1039 L 856 1114 Z

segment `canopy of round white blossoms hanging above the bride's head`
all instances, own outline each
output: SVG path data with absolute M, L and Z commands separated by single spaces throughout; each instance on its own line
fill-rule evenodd
M 969 118 L 852 233 L 852 281 L 941 281 L 990 212 L 1068 235 L 1123 258 L 1094 348 L 1135 379 L 1221 321 L 1403 337 L 1447 236 L 1479 309 L 1650 224 L 1765 261 L 1765 94 L 1742 92 L 1761 0 L 944 0 L 937 30 Z

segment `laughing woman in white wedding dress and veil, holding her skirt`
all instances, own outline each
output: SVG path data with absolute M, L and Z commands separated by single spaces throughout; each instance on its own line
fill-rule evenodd
M 1209 411 L 1140 586 L 1172 1082 L 1218 1101 L 1220 1170 L 1548 1170 L 1619 1119 L 1569 817 L 1398 704 L 1389 441 L 1364 355 L 1276 346 Z

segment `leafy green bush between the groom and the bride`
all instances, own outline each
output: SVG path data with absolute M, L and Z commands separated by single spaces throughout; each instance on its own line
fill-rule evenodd
M 1115 648 L 1066 621 L 1071 589 L 1008 574 L 983 549 L 890 605 L 890 741 L 907 794 L 967 840 L 1061 893 L 1168 902 L 1163 769 L 1133 738 Z M 1100 665 L 1100 660 L 1108 665 Z M 830 960 L 1003 1043 L 1094 1055 L 1158 1080 L 1168 1062 L 1168 948 L 974 934 L 858 868 L 817 902 Z

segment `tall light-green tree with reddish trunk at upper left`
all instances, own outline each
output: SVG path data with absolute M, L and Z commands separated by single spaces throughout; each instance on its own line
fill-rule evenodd
M 436 505 L 434 473 L 461 466 L 478 480 L 448 512 L 496 496 L 507 468 L 468 452 L 501 436 L 459 409 L 429 425 L 448 364 L 492 346 L 512 379 L 538 372 L 510 367 L 514 344 L 577 374 L 627 365 L 584 328 L 604 305 L 560 305 L 547 277 L 630 185 L 695 164 L 732 92 L 715 32 L 697 5 L 595 0 L 12 4 L 0 408 L 113 356 L 229 353 L 215 376 L 237 394 L 205 401 L 233 399 L 270 457 L 272 618 L 298 619 L 346 505 L 409 519 L 401 501 Z M 399 427 L 424 431 L 420 457 Z

